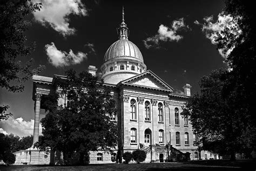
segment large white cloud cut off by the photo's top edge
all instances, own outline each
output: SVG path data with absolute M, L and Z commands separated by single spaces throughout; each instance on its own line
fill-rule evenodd
M 32 2 L 43 4 L 40 11 L 33 13 L 35 20 L 44 26 L 50 25 L 64 37 L 76 32 L 76 29 L 69 25 L 69 15 L 87 15 L 87 10 L 80 0 L 33 0 Z

